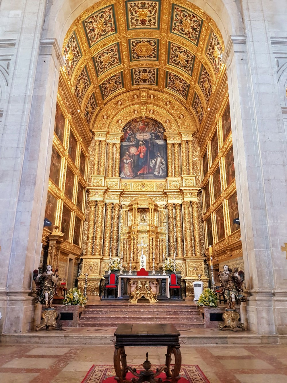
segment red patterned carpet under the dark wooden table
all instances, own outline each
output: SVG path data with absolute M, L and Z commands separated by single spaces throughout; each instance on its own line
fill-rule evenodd
M 142 365 L 131 365 L 130 367 L 136 368 L 137 371 L 141 370 Z M 154 366 L 154 368 L 161 366 Z M 115 383 L 114 380 L 114 366 L 113 365 L 93 365 L 82 383 Z M 210 383 L 206 378 L 204 373 L 197 365 L 186 364 L 181 366 L 180 375 L 182 378 L 178 381 L 178 383 Z M 127 373 L 127 379 L 132 378 L 133 375 L 131 373 Z M 158 376 L 159 378 L 165 378 L 165 373 L 162 373 Z M 164 380 L 170 381 L 170 380 Z

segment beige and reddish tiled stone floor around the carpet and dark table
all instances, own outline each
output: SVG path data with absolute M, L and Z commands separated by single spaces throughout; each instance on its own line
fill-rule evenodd
M 114 346 L 0 345 L 1 383 L 80 383 L 93 364 L 113 364 Z M 129 364 L 163 364 L 162 347 L 126 347 Z M 182 346 L 182 364 L 197 364 L 211 383 L 286 383 L 287 345 Z M 95 382 L 96 383 L 96 382 Z

